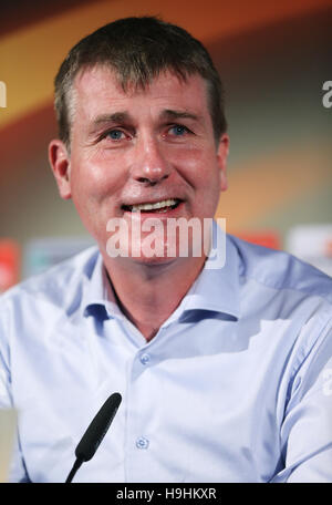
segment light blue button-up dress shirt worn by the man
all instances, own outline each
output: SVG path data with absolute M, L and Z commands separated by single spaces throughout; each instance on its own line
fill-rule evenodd
M 205 268 L 148 343 L 96 248 L 11 289 L 0 302 L 0 405 L 19 409 L 11 481 L 64 482 L 117 391 L 74 482 L 332 482 L 331 301 L 330 277 L 231 236 L 226 266 Z

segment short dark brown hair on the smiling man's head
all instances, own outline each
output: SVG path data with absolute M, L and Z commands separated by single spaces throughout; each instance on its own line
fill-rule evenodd
M 126 91 L 128 84 L 145 89 L 163 71 L 186 81 L 193 74 L 207 83 L 207 100 L 215 140 L 227 130 L 224 89 L 205 47 L 186 30 L 155 17 L 125 18 L 105 24 L 77 42 L 55 76 L 55 113 L 60 138 L 70 146 L 70 93 L 80 71 L 106 65 Z

